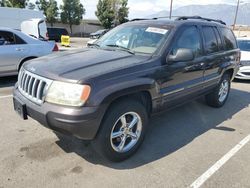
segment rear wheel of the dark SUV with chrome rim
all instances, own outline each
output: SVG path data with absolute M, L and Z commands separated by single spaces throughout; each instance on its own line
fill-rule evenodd
M 222 107 L 229 96 L 231 88 L 231 79 L 229 74 L 224 74 L 218 86 L 212 93 L 206 95 L 206 102 L 209 106 L 220 108 Z

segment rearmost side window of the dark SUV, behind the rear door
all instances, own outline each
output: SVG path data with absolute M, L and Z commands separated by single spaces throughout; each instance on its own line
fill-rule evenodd
M 226 50 L 236 49 L 237 42 L 236 42 L 233 32 L 229 28 L 222 27 L 221 33 L 222 33 L 223 40 L 225 42 Z

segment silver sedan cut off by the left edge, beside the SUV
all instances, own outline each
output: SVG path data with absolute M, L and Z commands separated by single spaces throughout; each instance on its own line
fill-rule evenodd
M 58 51 L 54 42 L 41 41 L 20 31 L 0 27 L 0 77 L 18 74 L 28 60 Z

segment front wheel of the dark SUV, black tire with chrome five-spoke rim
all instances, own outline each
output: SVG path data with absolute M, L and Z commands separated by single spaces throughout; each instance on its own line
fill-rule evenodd
M 147 111 L 139 101 L 115 103 L 107 111 L 93 147 L 110 161 L 123 161 L 141 145 L 147 123 Z

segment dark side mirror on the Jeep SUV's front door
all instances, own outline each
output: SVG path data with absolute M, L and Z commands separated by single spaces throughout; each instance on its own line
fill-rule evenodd
M 179 48 L 175 55 L 169 55 L 167 62 L 177 61 L 192 61 L 194 59 L 194 53 L 191 49 Z

